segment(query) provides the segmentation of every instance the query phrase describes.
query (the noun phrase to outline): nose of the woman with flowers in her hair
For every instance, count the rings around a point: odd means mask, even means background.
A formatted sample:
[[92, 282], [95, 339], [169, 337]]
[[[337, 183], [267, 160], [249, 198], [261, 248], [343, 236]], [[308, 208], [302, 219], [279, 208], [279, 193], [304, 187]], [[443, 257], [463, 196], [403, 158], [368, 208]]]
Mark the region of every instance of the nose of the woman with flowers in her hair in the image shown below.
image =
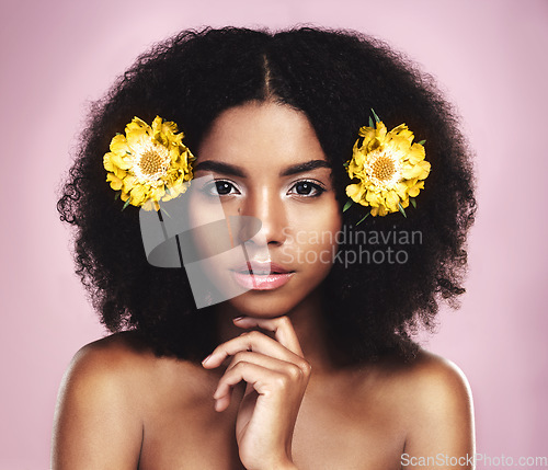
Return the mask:
[[[241, 241], [251, 241], [256, 245], [277, 247], [286, 240], [287, 216], [281, 196], [270, 188], [251, 194], [238, 209], [240, 216], [252, 216], [259, 219], [261, 228], [255, 233], [244, 230], [240, 233]], [[244, 227], [250, 227], [246, 225]], [[255, 226], [256, 228], [256, 226]]]

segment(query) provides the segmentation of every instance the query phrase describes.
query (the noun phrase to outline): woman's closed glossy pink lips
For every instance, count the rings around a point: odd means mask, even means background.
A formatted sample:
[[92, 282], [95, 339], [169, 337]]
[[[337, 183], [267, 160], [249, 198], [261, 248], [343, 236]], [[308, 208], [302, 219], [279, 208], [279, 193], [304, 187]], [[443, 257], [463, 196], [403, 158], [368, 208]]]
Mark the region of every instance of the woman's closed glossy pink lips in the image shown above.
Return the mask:
[[295, 274], [270, 262], [248, 262], [231, 270], [235, 280], [249, 290], [272, 290], [282, 287]]

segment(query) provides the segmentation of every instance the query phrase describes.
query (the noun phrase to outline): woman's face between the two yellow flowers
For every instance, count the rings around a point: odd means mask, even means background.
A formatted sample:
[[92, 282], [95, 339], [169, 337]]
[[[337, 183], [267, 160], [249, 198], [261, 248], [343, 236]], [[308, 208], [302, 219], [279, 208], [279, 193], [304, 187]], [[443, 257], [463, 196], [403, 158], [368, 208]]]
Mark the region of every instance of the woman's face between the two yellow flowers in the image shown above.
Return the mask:
[[[272, 102], [225, 111], [198, 149], [194, 173], [192, 226], [210, 222], [220, 200], [230, 238], [244, 248], [243, 262], [217, 257], [208, 277], [220, 289], [244, 291], [228, 300], [243, 314], [289, 312], [329, 274], [342, 223], [331, 169], [306, 115]], [[259, 232], [250, 219], [261, 221]], [[215, 233], [195, 243], [201, 257], [218, 253]]]

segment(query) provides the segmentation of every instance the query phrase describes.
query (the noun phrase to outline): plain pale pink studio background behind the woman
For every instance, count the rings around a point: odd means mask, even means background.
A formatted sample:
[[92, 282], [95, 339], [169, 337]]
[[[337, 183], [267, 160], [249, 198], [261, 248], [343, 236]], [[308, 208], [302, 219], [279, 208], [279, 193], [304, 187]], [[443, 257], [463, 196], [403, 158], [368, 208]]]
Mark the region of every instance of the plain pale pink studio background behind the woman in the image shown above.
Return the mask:
[[[57, 388], [103, 335], [72, 274], [55, 191], [87, 104], [185, 27], [296, 23], [377, 35], [433, 73], [477, 152], [468, 294], [429, 348], [472, 387], [477, 449], [546, 456], [548, 2], [545, 0], [3, 1], [0, 469], [49, 468]], [[516, 466], [515, 466], [516, 467]]]

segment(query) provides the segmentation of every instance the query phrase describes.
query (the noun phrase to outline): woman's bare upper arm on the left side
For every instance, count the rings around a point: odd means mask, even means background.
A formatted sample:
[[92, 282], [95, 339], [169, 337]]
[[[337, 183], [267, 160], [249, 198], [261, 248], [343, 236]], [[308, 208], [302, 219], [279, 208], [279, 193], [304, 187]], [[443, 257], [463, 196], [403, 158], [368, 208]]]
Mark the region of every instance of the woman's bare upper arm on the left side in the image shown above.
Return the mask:
[[142, 424], [123, 355], [91, 344], [80, 349], [59, 390], [53, 470], [135, 470]]

